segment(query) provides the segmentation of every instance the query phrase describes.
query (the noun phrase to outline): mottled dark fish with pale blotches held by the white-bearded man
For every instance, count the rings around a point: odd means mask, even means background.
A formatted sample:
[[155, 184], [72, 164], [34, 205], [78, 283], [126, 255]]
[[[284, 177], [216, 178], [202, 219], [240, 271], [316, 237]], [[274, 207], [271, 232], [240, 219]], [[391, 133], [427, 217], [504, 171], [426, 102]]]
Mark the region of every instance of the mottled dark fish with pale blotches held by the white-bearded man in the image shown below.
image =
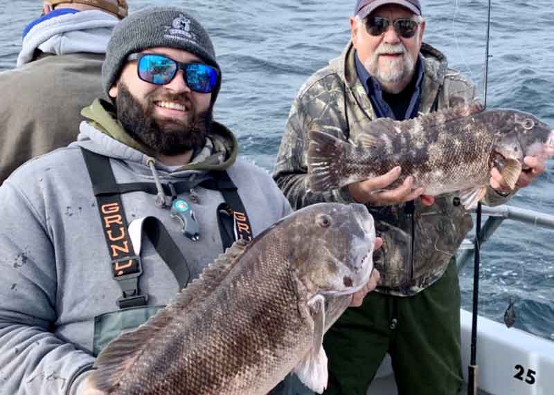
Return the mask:
[[309, 133], [307, 168], [313, 191], [331, 190], [402, 167], [391, 188], [413, 176], [425, 194], [460, 191], [465, 208], [485, 196], [497, 167], [515, 188], [524, 156], [554, 154], [554, 131], [531, 114], [484, 110], [479, 103], [429, 113], [412, 120], [379, 118], [347, 143], [323, 131]]

